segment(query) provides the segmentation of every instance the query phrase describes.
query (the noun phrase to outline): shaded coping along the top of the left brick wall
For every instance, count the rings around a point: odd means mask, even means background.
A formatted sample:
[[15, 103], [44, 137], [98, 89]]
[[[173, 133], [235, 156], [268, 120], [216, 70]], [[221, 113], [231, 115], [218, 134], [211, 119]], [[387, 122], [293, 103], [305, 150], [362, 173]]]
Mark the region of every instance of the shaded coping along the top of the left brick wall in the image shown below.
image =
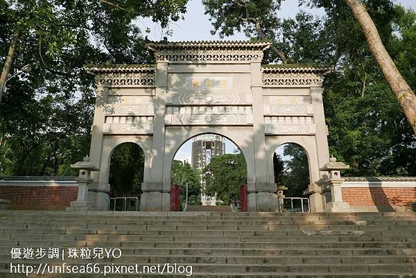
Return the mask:
[[76, 176], [3, 176], [0, 186], [78, 186]]

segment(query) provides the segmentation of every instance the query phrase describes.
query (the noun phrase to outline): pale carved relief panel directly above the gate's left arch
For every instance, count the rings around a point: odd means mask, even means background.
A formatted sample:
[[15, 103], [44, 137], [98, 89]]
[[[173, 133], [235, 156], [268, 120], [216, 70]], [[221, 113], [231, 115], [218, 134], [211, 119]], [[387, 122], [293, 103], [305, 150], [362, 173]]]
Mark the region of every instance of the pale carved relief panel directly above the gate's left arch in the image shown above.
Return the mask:
[[107, 134], [152, 134], [153, 116], [107, 116], [103, 125]]

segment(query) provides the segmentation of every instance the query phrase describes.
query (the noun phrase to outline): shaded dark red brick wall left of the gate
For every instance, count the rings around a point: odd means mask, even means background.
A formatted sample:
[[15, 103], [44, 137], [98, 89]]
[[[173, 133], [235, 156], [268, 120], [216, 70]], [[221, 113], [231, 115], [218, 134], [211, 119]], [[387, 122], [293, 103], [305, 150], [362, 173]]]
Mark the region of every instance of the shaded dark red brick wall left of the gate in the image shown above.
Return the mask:
[[0, 186], [9, 209], [64, 210], [77, 195], [78, 186]]

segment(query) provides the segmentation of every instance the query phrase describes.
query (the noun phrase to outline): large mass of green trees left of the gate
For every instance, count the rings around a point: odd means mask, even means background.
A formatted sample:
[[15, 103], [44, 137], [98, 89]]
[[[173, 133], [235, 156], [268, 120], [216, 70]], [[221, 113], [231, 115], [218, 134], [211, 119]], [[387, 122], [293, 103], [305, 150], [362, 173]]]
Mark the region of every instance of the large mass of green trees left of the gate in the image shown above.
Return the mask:
[[0, 64], [21, 33], [0, 103], [0, 175], [76, 175], [89, 153], [94, 77], [85, 64], [152, 63], [138, 17], [161, 26], [180, 19], [187, 0], [0, 0]]

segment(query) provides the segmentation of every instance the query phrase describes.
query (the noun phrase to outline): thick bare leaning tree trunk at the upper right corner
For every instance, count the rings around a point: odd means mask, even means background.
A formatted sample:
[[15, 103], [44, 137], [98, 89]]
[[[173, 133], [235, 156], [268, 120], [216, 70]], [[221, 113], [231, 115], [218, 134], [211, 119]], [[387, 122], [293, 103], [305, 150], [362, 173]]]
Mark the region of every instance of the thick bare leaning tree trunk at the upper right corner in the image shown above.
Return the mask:
[[416, 96], [385, 50], [379, 32], [361, 0], [345, 0], [363, 28], [367, 44], [416, 134]]

